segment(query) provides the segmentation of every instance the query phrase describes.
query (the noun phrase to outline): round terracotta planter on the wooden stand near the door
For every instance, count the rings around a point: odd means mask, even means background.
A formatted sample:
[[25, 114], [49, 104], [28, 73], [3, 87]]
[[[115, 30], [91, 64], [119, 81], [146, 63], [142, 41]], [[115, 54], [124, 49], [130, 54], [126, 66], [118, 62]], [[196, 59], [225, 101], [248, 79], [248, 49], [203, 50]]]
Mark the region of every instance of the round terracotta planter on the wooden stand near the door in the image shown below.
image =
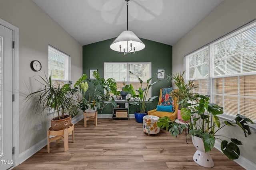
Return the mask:
[[54, 131], [59, 131], [68, 128], [71, 123], [71, 115], [62, 115], [59, 117], [54, 117], [51, 120], [51, 126]]

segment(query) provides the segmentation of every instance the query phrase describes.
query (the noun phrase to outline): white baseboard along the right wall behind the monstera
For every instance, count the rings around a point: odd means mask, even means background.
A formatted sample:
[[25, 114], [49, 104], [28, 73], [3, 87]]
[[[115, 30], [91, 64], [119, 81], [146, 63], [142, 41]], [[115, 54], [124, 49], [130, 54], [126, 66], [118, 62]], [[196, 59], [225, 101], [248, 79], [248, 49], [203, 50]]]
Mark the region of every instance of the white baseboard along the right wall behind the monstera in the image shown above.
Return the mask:
[[[220, 147], [220, 142], [215, 141], [214, 147], [216, 149], [220, 150], [220, 152], [222, 152], [221, 147]], [[246, 170], [256, 170], [256, 164], [254, 164], [250, 160], [244, 158], [243, 156], [239, 156], [239, 158], [235, 159], [234, 162], [236, 162], [237, 164], [239, 164], [240, 166], [242, 166]]]

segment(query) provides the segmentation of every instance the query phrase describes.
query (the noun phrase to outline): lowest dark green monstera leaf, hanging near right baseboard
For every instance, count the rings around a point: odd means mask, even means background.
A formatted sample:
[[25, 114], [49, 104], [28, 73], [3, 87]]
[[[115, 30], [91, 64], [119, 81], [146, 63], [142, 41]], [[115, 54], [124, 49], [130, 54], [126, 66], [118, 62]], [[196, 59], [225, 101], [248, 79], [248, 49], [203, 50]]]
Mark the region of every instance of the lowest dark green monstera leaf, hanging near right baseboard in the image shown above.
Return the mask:
[[237, 159], [240, 156], [240, 150], [238, 146], [233, 142], [228, 143], [228, 141], [222, 141], [220, 147], [222, 152], [230, 160]]

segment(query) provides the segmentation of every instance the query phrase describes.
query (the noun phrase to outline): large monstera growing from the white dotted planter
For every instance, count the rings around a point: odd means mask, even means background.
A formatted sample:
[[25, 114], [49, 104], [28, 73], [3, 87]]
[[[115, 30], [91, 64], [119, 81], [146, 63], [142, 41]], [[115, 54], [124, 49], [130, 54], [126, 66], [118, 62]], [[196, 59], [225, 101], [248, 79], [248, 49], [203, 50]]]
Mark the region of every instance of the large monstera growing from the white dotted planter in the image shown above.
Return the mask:
[[232, 121], [221, 122], [218, 115], [223, 114], [223, 107], [212, 104], [209, 100], [209, 96], [206, 95], [191, 96], [191, 103], [186, 103], [181, 109], [182, 119], [188, 123], [179, 124], [171, 121], [168, 117], [161, 117], [158, 121], [158, 127], [169, 129], [172, 136], [177, 136], [188, 127], [188, 137], [194, 135], [202, 138], [205, 152], [212, 150], [215, 140], [220, 139], [222, 152], [230, 160], [237, 159], [240, 156], [238, 145], [242, 145], [242, 143], [234, 138], [231, 138], [231, 142], [228, 143], [228, 141], [221, 139], [224, 136], [218, 136], [216, 133], [225, 126], [238, 126], [244, 131], [244, 136], [247, 137], [251, 134], [248, 123], [252, 124], [253, 122], [240, 114], [237, 114]]

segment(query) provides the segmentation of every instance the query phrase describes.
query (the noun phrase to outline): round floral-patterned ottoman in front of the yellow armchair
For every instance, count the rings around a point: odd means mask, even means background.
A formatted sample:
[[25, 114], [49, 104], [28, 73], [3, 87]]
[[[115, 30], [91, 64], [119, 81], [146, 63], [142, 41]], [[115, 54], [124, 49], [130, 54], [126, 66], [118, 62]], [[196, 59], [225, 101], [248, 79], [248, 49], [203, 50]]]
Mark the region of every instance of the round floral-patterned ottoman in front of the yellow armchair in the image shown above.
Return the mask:
[[160, 128], [157, 126], [159, 117], [153, 115], [146, 115], [143, 117], [143, 129], [144, 132], [150, 134], [157, 134], [160, 132]]

